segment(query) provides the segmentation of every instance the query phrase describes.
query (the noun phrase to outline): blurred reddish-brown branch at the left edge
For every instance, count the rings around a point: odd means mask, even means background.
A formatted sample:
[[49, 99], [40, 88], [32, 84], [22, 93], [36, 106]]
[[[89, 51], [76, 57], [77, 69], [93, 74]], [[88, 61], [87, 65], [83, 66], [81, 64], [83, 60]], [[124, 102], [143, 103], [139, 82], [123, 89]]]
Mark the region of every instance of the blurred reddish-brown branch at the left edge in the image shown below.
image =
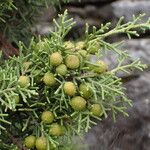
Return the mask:
[[9, 43], [1, 33], [0, 33], [0, 50], [2, 50], [6, 58], [9, 58], [9, 56], [13, 55], [19, 55], [19, 50], [15, 48], [11, 43]]

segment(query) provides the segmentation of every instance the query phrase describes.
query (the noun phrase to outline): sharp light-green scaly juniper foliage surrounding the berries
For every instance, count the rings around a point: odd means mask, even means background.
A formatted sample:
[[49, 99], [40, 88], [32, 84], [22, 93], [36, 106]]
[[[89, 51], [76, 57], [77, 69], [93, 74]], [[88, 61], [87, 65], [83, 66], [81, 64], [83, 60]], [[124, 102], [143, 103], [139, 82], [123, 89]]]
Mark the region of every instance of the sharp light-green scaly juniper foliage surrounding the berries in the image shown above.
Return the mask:
[[[108, 114], [112, 113], [114, 120], [118, 113], [128, 116], [126, 109], [132, 105], [132, 102], [124, 94], [125, 89], [117, 73], [120, 71], [130, 73], [133, 69], [143, 70], [146, 66], [139, 60], [126, 64], [126, 60], [130, 59], [127, 52], [120, 49], [120, 44], [108, 43], [105, 38], [118, 33], [126, 33], [129, 37], [133, 34], [138, 35], [135, 29], [150, 27], [149, 21], [140, 23], [141, 18], [142, 16], [133, 18], [133, 21], [127, 24], [121, 24], [119, 21], [112, 30], [109, 29], [109, 24], [101, 25], [100, 29], [93, 27], [92, 33], [89, 32], [87, 25], [82, 44], [79, 46], [76, 44], [77, 41], [72, 42], [71, 45], [74, 46], [68, 49], [69, 46], [66, 43], [70, 42], [66, 42], [64, 38], [75, 22], [73, 19], [68, 19], [67, 11], [65, 11], [63, 15], [59, 15], [59, 21], [54, 20], [55, 31], [49, 38], [39, 39], [39, 41], [32, 39], [28, 47], [20, 43], [20, 56], [6, 60], [0, 67], [0, 136], [3, 137], [0, 149], [4, 149], [5, 145], [10, 145], [11, 137], [23, 141], [28, 135], [34, 135], [36, 138], [45, 137], [47, 150], [52, 147], [52, 149], [59, 150], [67, 149], [66, 145], [72, 144], [74, 136], [82, 136], [84, 132], [88, 132], [93, 125], [97, 124], [97, 120], [108, 117]], [[99, 47], [97, 47], [97, 42]], [[107, 70], [104, 69], [100, 72], [90, 69], [91, 66], [99, 67], [99, 64], [90, 61], [91, 54], [88, 49], [91, 44], [92, 47], [95, 45], [100, 49], [94, 54], [98, 60], [102, 61], [104, 56], [102, 51], [107, 53], [111, 50], [117, 54], [118, 65], [112, 70], [108, 66]], [[78, 52], [79, 50], [87, 53], [83, 56]], [[50, 56], [56, 52], [61, 54], [63, 63], [66, 63], [66, 57], [75, 55], [79, 59], [79, 66], [67, 68], [65, 76], [56, 73], [56, 66], [52, 66], [49, 61]], [[51, 77], [47, 77], [43, 82], [45, 74], [53, 74], [56, 80], [55, 84], [51, 86], [44, 84], [45, 81], [51, 80]], [[30, 78], [30, 86], [19, 86], [18, 79], [22, 75]], [[75, 111], [72, 108], [71, 100], [75, 96], [65, 93], [65, 82], [74, 83], [77, 97], [82, 96], [79, 85], [87, 85], [88, 90], [90, 87], [92, 94], [85, 98], [80, 97], [77, 101], [78, 103], [80, 100], [82, 103], [84, 101], [84, 109], [79, 108], [75, 110], [80, 111]], [[70, 90], [70, 88], [68, 89]], [[17, 104], [12, 98], [14, 95], [19, 95], [20, 101]], [[99, 104], [98, 111], [102, 111], [100, 115], [94, 115], [91, 112], [94, 104]], [[53, 123], [57, 123], [61, 127], [63, 134], [58, 134], [60, 131], [58, 128], [55, 130], [57, 136], [49, 133], [52, 124], [45, 124], [41, 120], [41, 114], [44, 111], [54, 114]], [[70, 149], [72, 149], [71, 146]]]

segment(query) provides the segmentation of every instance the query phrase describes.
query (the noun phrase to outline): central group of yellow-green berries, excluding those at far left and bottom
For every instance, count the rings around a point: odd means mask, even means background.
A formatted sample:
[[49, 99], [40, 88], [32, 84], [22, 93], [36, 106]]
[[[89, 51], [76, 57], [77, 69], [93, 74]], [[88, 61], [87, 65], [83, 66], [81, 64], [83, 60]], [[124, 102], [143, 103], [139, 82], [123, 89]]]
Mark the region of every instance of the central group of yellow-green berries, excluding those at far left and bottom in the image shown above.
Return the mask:
[[[84, 42], [77, 42], [76, 45], [74, 45], [69, 41], [64, 45], [66, 50], [71, 50], [69, 54], [67, 56], [62, 56], [61, 53], [54, 52], [49, 56], [49, 61], [53, 67], [56, 67], [56, 73], [66, 77], [66, 79], [68, 77], [67, 74], [71, 75], [71, 70], [76, 70], [80, 67], [82, 63], [80, 57], [83, 59], [89, 59], [89, 54], [95, 54], [99, 50], [98, 43], [97, 45], [95, 45], [95, 43], [94, 45], [90, 45], [86, 50]], [[98, 61], [96, 65], [88, 64], [87, 68], [95, 73], [104, 73], [107, 70], [107, 65], [103, 61]], [[73, 79], [73, 77], [69, 78], [69, 81], [64, 81], [62, 86], [63, 91], [66, 95], [71, 97], [69, 103], [74, 111], [85, 110], [87, 103], [86, 100], [90, 99], [93, 93], [90, 88], [90, 83], [84, 82], [78, 86], [78, 83], [74, 83], [73, 81], [70, 81], [70, 79]], [[53, 86], [57, 80], [53, 73], [48, 72], [45, 73], [43, 82], [47, 86]], [[96, 116], [100, 116], [102, 113], [101, 106], [99, 104], [93, 104], [91, 112]]]

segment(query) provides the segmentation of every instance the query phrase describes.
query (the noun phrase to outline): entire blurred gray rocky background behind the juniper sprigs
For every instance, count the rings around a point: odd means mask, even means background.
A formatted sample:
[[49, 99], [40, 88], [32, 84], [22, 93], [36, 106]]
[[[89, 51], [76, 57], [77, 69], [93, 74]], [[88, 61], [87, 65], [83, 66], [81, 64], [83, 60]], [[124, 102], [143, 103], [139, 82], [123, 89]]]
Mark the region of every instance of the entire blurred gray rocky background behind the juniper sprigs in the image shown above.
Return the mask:
[[[68, 9], [76, 20], [77, 26], [70, 33], [69, 38], [82, 37], [86, 22], [99, 26], [101, 23], [112, 22], [112, 26], [121, 17], [125, 22], [132, 19], [132, 15], [145, 13], [145, 20], [150, 17], [150, 0], [81, 0], [63, 5], [62, 10]], [[49, 22], [57, 12], [49, 9], [41, 17], [43, 22], [36, 26], [36, 32], [46, 34]], [[43, 28], [44, 26], [44, 28]], [[42, 28], [41, 28], [42, 27]], [[124, 36], [116, 36], [110, 41], [124, 39], [124, 49], [132, 58], [150, 65], [150, 32], [147, 31], [137, 39], [127, 40]], [[108, 63], [113, 63], [111, 57]], [[149, 150], [150, 149], [150, 69], [126, 77], [124, 86], [127, 95], [133, 100], [133, 107], [129, 108], [129, 117], [119, 116], [114, 123], [111, 118], [98, 123], [85, 136], [88, 144], [85, 150]]]

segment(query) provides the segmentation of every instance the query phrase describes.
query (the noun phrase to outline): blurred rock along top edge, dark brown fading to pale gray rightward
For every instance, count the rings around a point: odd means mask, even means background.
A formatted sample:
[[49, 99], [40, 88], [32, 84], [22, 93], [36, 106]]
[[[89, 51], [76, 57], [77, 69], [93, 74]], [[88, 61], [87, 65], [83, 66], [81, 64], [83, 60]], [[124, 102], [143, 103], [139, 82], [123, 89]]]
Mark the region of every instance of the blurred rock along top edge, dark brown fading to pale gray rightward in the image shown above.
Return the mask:
[[[87, 0], [88, 1], [88, 0]], [[108, 2], [108, 1], [107, 1]], [[145, 13], [143, 21], [146, 21], [150, 16], [150, 1], [148, 0], [119, 0], [109, 1], [107, 5], [97, 3], [87, 3], [84, 6], [69, 5], [65, 7], [72, 16], [78, 16], [81, 19], [76, 20], [80, 26], [85, 23], [99, 26], [103, 22], [112, 22], [114, 25], [122, 16], [125, 17], [125, 22], [131, 21], [133, 14], [135, 16]], [[75, 18], [78, 18], [75, 17]]]

